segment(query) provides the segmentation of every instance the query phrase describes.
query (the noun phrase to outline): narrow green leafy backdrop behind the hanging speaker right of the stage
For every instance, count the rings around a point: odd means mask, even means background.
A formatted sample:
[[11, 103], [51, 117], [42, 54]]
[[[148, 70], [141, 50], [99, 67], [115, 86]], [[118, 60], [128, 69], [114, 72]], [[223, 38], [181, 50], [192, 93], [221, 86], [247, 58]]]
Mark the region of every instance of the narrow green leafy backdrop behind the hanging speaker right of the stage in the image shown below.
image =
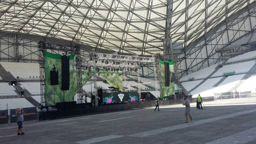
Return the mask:
[[[164, 83], [165, 83], [164, 62], [169, 62], [169, 68], [170, 68], [170, 86], [168, 86], [168, 87], [164, 86]], [[168, 97], [170, 94], [175, 94], [174, 83], [171, 82], [172, 73], [174, 73], [173, 64], [174, 64], [174, 61], [159, 60], [160, 78], [161, 78], [161, 83], [160, 83], [160, 97], [161, 98]]]

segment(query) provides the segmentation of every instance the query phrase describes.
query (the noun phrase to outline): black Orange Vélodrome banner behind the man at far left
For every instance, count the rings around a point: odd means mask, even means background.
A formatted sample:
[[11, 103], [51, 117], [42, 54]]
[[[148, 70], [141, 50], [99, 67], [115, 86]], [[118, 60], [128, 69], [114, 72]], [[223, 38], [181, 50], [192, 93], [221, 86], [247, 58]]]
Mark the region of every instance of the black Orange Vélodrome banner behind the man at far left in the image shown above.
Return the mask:
[[[24, 121], [36, 120], [36, 107], [22, 108]], [[17, 116], [15, 115], [16, 109], [11, 109], [11, 123], [17, 122]]]

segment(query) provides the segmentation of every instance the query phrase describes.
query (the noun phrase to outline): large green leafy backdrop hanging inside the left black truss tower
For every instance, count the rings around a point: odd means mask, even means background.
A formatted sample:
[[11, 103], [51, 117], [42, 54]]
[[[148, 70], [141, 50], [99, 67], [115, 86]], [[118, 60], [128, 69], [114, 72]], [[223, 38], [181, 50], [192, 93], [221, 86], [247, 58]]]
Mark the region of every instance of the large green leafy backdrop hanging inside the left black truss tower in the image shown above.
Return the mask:
[[[76, 84], [76, 68], [75, 65], [75, 54], [69, 55], [69, 90], [61, 90], [61, 55], [53, 54], [50, 52], [44, 51], [45, 59], [45, 89], [46, 89], [46, 102], [47, 106], [55, 105], [57, 102], [74, 101], [74, 96], [77, 93], [77, 84]], [[59, 71], [59, 85], [50, 84], [50, 71], [55, 65], [56, 70]], [[91, 76], [84, 75], [82, 76], [83, 85], [91, 78]], [[64, 92], [64, 97], [63, 97]]]

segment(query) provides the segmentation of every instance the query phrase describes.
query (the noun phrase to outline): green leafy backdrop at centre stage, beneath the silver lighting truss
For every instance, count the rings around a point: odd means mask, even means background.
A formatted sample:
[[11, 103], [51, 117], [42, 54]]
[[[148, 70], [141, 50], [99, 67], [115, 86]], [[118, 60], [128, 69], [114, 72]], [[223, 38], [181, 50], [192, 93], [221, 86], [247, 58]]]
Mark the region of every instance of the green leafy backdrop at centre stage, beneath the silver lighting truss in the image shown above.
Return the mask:
[[[108, 82], [109, 85], [114, 86], [116, 88], [119, 87], [119, 91], [123, 91], [123, 77], [122, 75], [119, 76], [118, 74], [122, 74], [122, 71], [117, 71], [118, 73], [113, 73], [113, 76], [111, 76], [111, 71], [104, 71], [100, 70], [100, 75]], [[108, 75], [107, 75], [108, 74]], [[105, 87], [108, 89], [107, 87]]]

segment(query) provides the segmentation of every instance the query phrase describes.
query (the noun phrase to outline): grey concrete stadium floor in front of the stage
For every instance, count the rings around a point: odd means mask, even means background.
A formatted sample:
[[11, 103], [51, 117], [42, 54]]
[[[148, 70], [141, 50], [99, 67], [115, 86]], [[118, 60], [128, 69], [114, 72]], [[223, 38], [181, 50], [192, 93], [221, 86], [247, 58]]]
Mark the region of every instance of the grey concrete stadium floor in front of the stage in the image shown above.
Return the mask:
[[184, 124], [182, 105], [81, 116], [43, 122], [0, 125], [0, 143], [256, 143], [256, 98], [191, 104], [194, 123]]

